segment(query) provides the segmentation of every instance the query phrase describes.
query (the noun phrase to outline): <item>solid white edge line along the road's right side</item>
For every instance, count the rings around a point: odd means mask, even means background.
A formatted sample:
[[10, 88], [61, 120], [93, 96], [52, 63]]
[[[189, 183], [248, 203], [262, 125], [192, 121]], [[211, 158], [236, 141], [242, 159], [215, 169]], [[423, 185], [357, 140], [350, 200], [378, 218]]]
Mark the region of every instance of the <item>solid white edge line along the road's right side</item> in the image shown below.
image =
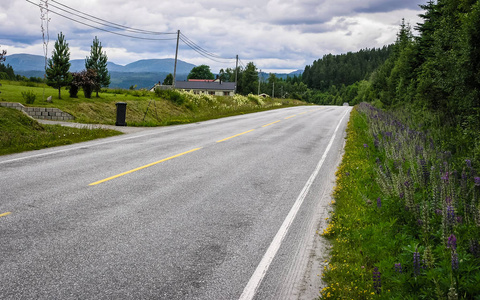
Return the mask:
[[322, 155], [322, 158], [318, 162], [317, 167], [313, 171], [312, 175], [310, 175], [310, 178], [308, 179], [307, 183], [305, 184], [302, 191], [300, 192], [300, 195], [298, 195], [297, 200], [293, 204], [292, 208], [290, 209], [290, 212], [288, 213], [287, 217], [283, 221], [282, 226], [280, 227], [277, 234], [273, 238], [272, 243], [270, 244], [267, 251], [263, 255], [263, 258], [258, 264], [257, 269], [255, 270], [252, 277], [250, 278], [247, 285], [245, 286], [239, 300], [251, 300], [253, 299], [253, 297], [255, 297], [257, 289], [260, 286], [260, 283], [262, 282], [263, 278], [265, 277], [265, 274], [267, 274], [268, 268], [270, 267], [270, 264], [275, 258], [275, 255], [277, 254], [278, 249], [280, 249], [282, 241], [287, 235], [290, 225], [292, 225], [293, 220], [295, 219], [295, 216], [300, 210], [300, 206], [305, 200], [305, 197], [307, 196], [310, 190], [310, 187], [313, 184], [313, 181], [317, 177], [318, 173], [320, 172], [320, 168], [322, 167], [323, 163], [325, 162], [325, 159], [327, 158], [327, 154], [330, 151], [330, 148], [332, 147], [333, 141], [335, 140], [335, 137], [337, 135], [337, 131], [340, 128], [340, 124], [342, 123], [343, 119], [345, 118], [345, 116], [349, 111], [350, 110], [347, 110], [343, 115], [343, 117], [338, 122], [338, 125], [335, 128], [335, 131], [333, 132], [333, 135], [330, 138], [330, 142], [328, 143], [327, 148], [325, 149], [325, 152]]

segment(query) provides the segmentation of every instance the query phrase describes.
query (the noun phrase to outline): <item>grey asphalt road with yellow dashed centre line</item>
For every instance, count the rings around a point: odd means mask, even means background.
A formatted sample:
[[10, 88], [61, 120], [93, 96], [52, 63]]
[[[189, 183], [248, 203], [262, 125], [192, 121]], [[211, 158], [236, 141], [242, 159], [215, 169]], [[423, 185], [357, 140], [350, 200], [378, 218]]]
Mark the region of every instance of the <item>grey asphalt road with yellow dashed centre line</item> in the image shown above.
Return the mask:
[[293, 107], [1, 156], [0, 298], [308, 294], [350, 109]]

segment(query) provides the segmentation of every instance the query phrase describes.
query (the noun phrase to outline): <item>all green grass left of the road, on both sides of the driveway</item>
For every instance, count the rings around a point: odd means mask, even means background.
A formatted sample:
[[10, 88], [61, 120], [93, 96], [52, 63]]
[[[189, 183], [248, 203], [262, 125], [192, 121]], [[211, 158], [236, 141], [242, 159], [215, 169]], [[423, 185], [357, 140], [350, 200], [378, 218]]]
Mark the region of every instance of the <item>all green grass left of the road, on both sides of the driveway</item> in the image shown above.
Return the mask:
[[[1, 81], [0, 101], [19, 102], [25, 106], [55, 107], [75, 117], [75, 122], [110, 124], [116, 122], [116, 103], [126, 102], [128, 126], [166, 126], [205, 121], [227, 116], [264, 111], [275, 108], [305, 105], [289, 99], [261, 99], [257, 96], [212, 97], [185, 92], [153, 93], [146, 90], [105, 89], [99, 97], [87, 99], [83, 91], [78, 98], [70, 98], [58, 91], [32, 82]], [[35, 95], [33, 104], [26, 104], [22, 93]], [[52, 96], [53, 103], [44, 99]], [[118, 134], [114, 131], [63, 128], [40, 125], [15, 110], [1, 110], [0, 155], [27, 150], [71, 144]]]

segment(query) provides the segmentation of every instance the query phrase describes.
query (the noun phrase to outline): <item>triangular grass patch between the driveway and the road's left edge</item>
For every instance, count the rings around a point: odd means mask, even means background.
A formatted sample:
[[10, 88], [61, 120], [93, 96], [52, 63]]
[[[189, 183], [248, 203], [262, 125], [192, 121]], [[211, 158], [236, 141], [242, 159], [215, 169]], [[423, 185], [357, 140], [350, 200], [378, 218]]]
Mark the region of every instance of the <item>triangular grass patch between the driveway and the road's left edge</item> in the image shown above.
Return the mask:
[[42, 125], [24, 113], [0, 107], [0, 155], [68, 145], [121, 134], [114, 130]]

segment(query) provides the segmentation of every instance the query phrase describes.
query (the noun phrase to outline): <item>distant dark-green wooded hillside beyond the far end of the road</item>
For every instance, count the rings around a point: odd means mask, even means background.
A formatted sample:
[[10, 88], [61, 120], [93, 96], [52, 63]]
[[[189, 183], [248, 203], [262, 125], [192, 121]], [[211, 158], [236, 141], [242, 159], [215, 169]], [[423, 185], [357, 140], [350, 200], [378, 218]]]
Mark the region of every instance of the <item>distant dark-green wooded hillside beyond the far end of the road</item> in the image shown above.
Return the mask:
[[390, 56], [393, 46], [381, 49], [364, 49], [341, 55], [328, 54], [307, 65], [303, 82], [311, 89], [327, 91], [331, 86], [351, 85], [368, 79]]

